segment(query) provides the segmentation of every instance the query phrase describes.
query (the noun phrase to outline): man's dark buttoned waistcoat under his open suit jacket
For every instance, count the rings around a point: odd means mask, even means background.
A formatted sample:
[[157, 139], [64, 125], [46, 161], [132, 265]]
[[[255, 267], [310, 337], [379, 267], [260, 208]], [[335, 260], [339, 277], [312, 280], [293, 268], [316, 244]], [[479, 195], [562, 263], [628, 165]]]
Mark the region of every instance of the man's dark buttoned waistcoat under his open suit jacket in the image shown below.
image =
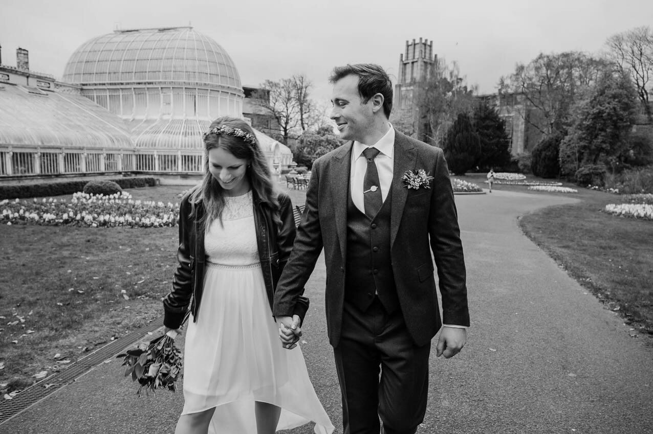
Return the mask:
[[347, 194], [345, 300], [365, 311], [377, 295], [388, 313], [399, 307], [390, 258], [390, 191], [374, 219]]

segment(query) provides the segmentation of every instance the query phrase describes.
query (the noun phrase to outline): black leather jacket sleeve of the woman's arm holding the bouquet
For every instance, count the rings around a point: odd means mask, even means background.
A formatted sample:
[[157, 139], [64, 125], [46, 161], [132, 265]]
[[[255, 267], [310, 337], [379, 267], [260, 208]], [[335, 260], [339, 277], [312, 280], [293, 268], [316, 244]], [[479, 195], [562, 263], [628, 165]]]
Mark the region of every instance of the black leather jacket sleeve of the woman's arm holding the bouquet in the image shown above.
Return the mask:
[[163, 299], [165, 315], [163, 324], [172, 329], [181, 326], [185, 312], [193, 295], [193, 246], [195, 220], [190, 219], [191, 204], [188, 196], [182, 199], [179, 210], [179, 248], [177, 249], [178, 265], [174, 271], [172, 290]]

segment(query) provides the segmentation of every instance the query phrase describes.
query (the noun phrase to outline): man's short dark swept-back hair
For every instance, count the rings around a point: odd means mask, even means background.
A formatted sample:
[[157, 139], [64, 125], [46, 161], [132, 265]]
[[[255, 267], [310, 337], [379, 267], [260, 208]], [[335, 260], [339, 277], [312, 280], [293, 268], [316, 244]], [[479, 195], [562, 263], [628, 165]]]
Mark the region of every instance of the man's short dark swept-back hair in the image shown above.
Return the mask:
[[383, 95], [383, 113], [390, 119], [392, 112], [392, 82], [387, 72], [374, 63], [357, 63], [344, 67], [335, 67], [329, 82], [335, 84], [348, 75], [358, 76], [358, 93], [366, 104], [377, 93]]

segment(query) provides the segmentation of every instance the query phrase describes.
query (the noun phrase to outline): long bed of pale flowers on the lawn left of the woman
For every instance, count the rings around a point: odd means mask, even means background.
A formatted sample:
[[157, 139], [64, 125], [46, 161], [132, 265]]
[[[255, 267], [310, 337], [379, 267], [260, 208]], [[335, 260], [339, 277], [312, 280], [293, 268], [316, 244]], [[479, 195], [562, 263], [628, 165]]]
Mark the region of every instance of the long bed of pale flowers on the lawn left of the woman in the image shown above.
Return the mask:
[[170, 202], [132, 200], [125, 192], [110, 196], [74, 193], [70, 202], [5, 199], [0, 202], [0, 221], [7, 225], [163, 227], [176, 225], [178, 208]]

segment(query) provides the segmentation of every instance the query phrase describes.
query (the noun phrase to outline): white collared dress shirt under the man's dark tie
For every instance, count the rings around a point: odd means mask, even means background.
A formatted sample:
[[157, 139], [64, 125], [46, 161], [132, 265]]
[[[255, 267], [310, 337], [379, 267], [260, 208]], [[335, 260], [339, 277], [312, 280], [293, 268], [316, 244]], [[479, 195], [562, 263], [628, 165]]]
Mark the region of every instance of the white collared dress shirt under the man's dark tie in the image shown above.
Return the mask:
[[356, 208], [365, 212], [363, 199], [363, 179], [367, 170], [367, 159], [363, 151], [370, 146], [379, 149], [379, 155], [374, 159], [376, 170], [379, 172], [379, 187], [381, 187], [381, 198], [385, 202], [392, 185], [392, 170], [394, 169], [394, 128], [390, 129], [381, 137], [378, 142], [373, 144], [362, 144], [354, 142], [351, 149], [351, 174], [349, 174], [349, 188], [351, 189], [351, 200]]

